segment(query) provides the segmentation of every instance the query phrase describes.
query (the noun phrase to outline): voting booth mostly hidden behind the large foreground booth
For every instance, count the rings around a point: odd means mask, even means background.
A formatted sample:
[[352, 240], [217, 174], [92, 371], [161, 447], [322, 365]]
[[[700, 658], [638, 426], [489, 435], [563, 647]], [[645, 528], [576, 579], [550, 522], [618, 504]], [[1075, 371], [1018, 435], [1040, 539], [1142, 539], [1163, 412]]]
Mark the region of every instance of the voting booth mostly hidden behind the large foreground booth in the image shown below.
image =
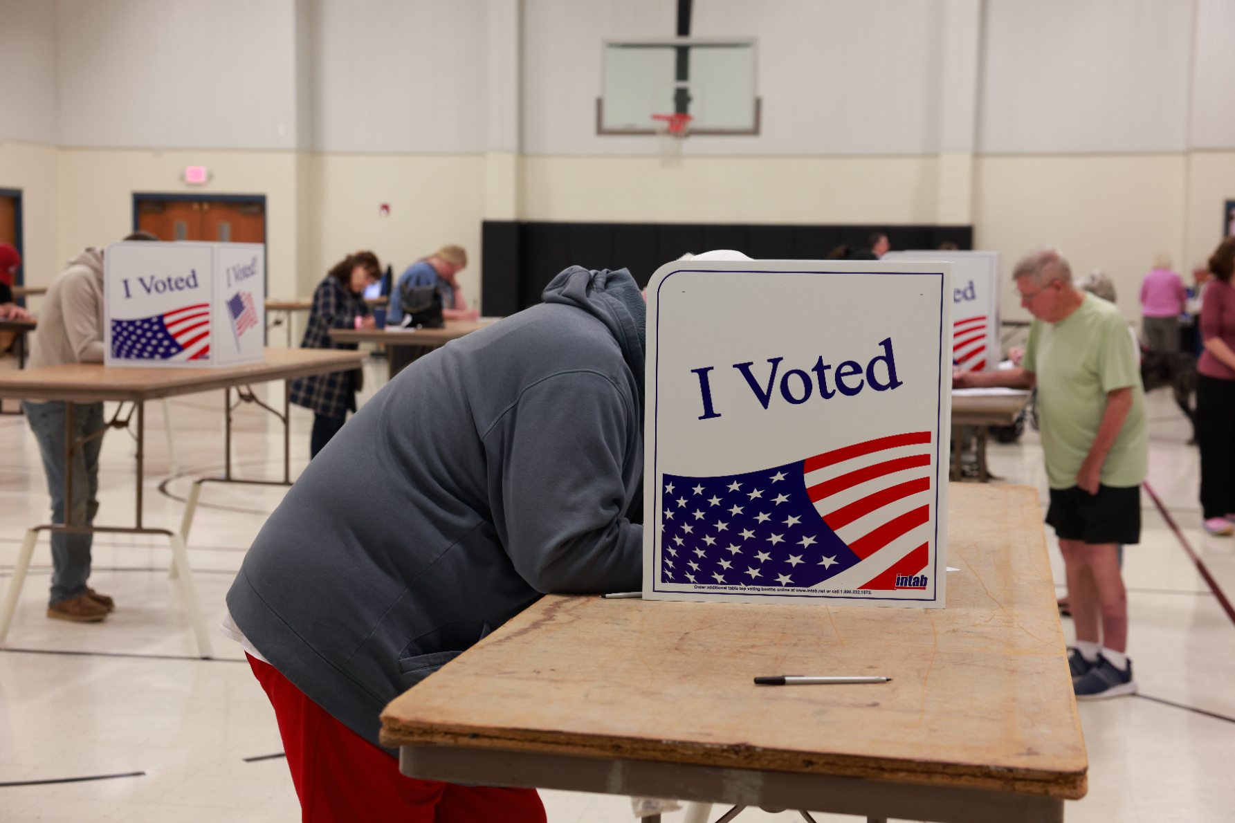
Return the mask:
[[972, 371], [999, 368], [999, 252], [888, 252], [883, 259], [951, 262], [952, 362]]

